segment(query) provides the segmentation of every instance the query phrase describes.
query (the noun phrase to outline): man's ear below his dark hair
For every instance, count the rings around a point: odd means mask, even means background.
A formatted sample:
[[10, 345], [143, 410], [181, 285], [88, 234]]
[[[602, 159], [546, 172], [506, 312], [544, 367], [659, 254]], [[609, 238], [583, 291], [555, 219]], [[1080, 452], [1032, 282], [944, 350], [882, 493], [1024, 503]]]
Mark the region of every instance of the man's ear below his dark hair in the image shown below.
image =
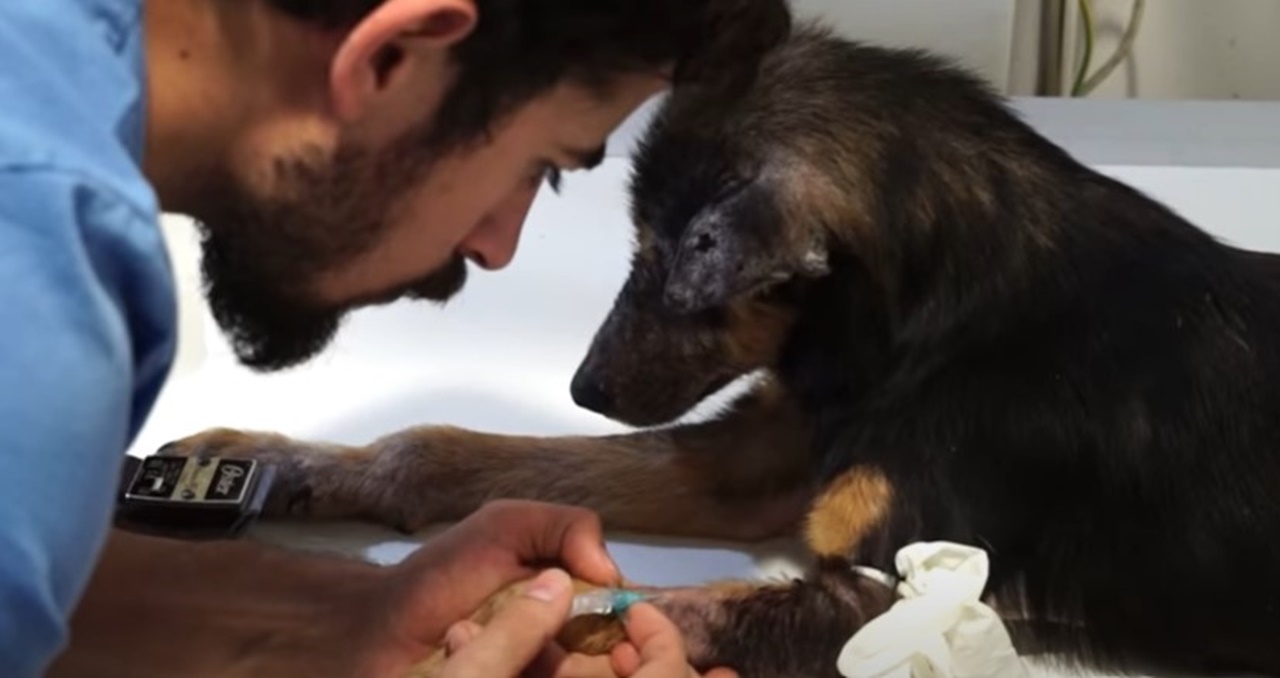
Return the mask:
[[471, 33], [476, 19], [474, 0], [385, 0], [378, 5], [333, 58], [329, 87], [337, 115], [355, 120], [411, 79], [411, 70], [424, 68], [424, 61], [445, 64], [448, 50]]

